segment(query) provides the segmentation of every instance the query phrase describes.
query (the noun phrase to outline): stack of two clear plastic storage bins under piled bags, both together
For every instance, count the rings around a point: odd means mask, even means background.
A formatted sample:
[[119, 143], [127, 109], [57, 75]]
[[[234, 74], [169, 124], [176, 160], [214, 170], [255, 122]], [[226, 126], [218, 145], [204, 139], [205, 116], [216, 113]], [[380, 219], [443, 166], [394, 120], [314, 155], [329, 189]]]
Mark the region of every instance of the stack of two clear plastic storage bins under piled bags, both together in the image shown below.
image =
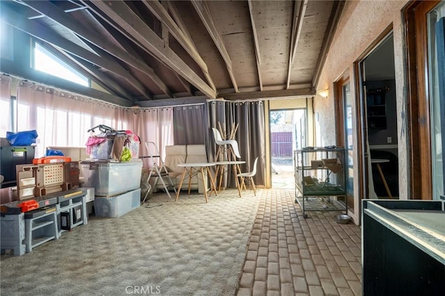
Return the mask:
[[95, 188], [95, 215], [120, 217], [140, 206], [140, 175], [143, 163], [82, 161], [85, 187]]

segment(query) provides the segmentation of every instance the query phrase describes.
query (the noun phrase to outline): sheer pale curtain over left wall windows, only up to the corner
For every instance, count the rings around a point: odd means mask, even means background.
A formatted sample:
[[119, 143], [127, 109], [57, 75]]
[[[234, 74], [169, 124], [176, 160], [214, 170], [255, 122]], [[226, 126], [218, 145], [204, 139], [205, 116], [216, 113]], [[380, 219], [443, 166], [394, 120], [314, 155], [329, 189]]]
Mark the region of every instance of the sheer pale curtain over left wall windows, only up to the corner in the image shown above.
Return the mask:
[[36, 157], [44, 156], [49, 146], [86, 147], [92, 127], [127, 130], [132, 120], [118, 106], [26, 81], [19, 84], [17, 110], [17, 130], [38, 132]]

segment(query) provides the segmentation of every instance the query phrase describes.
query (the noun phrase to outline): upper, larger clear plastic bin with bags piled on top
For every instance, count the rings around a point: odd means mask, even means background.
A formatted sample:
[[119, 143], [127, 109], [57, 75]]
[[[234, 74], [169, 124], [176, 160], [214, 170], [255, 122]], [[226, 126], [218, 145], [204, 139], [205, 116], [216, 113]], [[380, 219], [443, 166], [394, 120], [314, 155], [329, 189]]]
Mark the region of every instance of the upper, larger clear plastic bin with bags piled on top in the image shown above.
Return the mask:
[[113, 163], [82, 161], [83, 187], [95, 188], [96, 196], [112, 196], [140, 187], [142, 161]]

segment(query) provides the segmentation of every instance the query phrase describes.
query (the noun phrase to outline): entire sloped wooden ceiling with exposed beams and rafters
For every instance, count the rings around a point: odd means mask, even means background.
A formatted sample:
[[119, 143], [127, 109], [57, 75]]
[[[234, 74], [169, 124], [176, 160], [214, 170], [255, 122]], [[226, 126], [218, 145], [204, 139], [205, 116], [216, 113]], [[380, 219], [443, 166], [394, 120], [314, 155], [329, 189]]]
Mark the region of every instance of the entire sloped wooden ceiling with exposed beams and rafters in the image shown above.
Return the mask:
[[0, 1], [122, 105], [313, 96], [343, 1]]

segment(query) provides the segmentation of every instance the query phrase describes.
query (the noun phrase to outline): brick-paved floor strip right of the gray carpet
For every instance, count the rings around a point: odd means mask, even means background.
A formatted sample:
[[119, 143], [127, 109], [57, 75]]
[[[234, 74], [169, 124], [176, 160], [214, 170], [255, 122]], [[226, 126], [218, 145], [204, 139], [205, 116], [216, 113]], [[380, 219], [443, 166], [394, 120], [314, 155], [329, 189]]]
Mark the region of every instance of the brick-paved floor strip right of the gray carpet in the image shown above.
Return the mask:
[[263, 190], [236, 295], [361, 295], [361, 229], [307, 212], [293, 190]]

